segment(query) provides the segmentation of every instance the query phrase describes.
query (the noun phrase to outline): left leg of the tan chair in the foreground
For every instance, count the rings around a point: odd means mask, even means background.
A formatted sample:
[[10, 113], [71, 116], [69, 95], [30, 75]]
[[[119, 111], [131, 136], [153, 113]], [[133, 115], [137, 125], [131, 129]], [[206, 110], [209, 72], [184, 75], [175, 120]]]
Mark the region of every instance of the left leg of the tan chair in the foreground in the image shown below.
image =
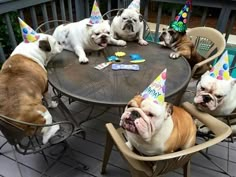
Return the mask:
[[113, 142], [110, 134], [107, 132], [107, 135], [106, 135], [106, 146], [105, 146], [105, 150], [104, 150], [101, 174], [106, 173], [106, 166], [107, 166], [107, 163], [109, 161], [113, 145], [114, 145], [114, 142]]

